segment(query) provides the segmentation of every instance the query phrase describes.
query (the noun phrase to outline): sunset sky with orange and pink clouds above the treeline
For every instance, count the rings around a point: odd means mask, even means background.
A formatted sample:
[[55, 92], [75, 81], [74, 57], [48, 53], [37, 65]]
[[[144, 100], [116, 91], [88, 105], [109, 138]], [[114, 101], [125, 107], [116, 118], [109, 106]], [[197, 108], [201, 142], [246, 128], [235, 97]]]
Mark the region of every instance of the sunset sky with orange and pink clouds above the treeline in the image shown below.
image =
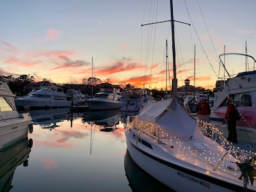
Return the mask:
[[[195, 75], [195, 86], [212, 89], [223, 76], [224, 47], [256, 57], [255, 7], [255, 0], [173, 0], [174, 19], [191, 24], [175, 22], [178, 87], [185, 79], [193, 85]], [[102, 82], [164, 88], [168, 40], [173, 77], [170, 22], [141, 27], [170, 20], [168, 0], [2, 0], [0, 18], [4, 76], [81, 84], [92, 77], [93, 58], [93, 76]], [[246, 70], [244, 63], [225, 57], [230, 74]]]

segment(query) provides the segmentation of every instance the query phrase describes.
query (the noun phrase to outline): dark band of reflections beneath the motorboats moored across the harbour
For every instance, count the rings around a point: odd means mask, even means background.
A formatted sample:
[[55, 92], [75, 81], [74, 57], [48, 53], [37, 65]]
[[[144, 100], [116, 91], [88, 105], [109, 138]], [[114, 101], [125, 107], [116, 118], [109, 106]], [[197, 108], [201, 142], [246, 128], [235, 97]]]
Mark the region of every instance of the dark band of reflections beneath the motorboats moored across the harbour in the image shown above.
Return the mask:
[[127, 116], [134, 116], [136, 112], [120, 112], [117, 110], [103, 111], [81, 111], [79, 113], [70, 112], [70, 108], [40, 109], [29, 111], [33, 124], [40, 125], [42, 129], [52, 129], [60, 127], [64, 120], [73, 121], [82, 118], [82, 123], [99, 125], [100, 131], [114, 131], [118, 129], [116, 125], [120, 122], [126, 124]]

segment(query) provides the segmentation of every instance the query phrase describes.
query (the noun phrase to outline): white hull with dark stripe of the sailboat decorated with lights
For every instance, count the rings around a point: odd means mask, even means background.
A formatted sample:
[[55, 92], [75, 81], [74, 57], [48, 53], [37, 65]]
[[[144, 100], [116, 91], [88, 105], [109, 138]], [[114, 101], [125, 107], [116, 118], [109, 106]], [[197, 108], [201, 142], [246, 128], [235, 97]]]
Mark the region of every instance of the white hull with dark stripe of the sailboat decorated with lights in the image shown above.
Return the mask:
[[[223, 179], [218, 173], [213, 177], [211, 173], [205, 173], [204, 168], [193, 166], [172, 155], [161, 156], [163, 150], [161, 152], [161, 148], [155, 148], [156, 143], [145, 138], [138, 142], [134, 135], [132, 129], [125, 131], [127, 150], [132, 160], [169, 188], [175, 191], [243, 191], [243, 180]], [[164, 148], [164, 145], [161, 147]], [[248, 186], [247, 191], [254, 191], [251, 187]]]

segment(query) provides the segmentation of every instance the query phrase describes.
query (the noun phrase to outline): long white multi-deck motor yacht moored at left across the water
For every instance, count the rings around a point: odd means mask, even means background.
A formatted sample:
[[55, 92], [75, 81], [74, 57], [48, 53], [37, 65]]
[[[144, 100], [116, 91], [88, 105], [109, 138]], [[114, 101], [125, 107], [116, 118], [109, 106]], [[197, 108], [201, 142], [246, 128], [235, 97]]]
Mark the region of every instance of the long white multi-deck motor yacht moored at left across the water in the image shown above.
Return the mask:
[[17, 97], [15, 104], [20, 111], [30, 109], [67, 108], [71, 106], [71, 97], [58, 86], [44, 86], [27, 97]]

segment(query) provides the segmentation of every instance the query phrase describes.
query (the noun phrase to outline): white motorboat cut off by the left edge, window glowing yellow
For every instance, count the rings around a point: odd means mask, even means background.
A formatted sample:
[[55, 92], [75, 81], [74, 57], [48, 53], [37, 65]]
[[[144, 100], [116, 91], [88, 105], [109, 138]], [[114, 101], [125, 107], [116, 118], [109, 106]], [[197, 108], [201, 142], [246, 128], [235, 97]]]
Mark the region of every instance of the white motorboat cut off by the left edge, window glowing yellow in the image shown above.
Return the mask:
[[18, 113], [14, 97], [7, 79], [0, 76], [0, 148], [24, 138], [28, 135], [29, 128], [33, 128], [30, 114]]

